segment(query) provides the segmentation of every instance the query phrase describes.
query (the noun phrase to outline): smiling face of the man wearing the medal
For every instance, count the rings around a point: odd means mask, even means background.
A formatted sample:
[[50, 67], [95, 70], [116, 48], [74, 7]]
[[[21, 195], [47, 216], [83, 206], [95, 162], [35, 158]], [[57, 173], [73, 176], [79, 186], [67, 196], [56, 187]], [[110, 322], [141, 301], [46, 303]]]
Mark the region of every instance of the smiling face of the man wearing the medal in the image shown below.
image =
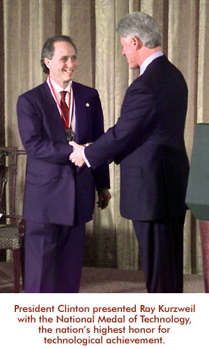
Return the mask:
[[77, 69], [75, 48], [65, 41], [54, 43], [54, 56], [52, 59], [45, 58], [45, 65], [52, 80], [65, 89]]

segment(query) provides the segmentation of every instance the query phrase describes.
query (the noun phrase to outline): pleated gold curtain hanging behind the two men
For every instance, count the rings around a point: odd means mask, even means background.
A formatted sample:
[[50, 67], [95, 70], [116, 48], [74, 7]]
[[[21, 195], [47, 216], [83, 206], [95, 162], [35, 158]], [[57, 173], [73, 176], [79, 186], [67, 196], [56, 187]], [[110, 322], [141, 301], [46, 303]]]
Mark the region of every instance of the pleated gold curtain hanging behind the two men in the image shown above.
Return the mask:
[[[6, 145], [22, 148], [17, 129], [17, 97], [45, 79], [40, 68], [40, 50], [44, 41], [56, 34], [69, 35], [75, 41], [79, 64], [76, 80], [98, 89], [104, 128], [114, 125], [125, 90], [137, 76], [136, 71], [127, 68], [121, 55], [116, 24], [126, 13], [141, 10], [157, 20], [164, 53], [187, 80], [185, 141], [191, 156], [194, 125], [209, 122], [209, 0], [3, 0], [2, 10], [1, 144], [5, 140]], [[24, 163], [20, 172], [24, 178]], [[87, 224], [85, 262], [137, 269], [139, 248], [132, 223], [121, 218], [119, 212], [119, 167], [114, 163], [110, 165], [110, 175], [110, 205], [101, 212], [95, 207], [94, 219]], [[186, 273], [202, 272], [199, 228], [190, 211], [185, 221], [184, 266]]]

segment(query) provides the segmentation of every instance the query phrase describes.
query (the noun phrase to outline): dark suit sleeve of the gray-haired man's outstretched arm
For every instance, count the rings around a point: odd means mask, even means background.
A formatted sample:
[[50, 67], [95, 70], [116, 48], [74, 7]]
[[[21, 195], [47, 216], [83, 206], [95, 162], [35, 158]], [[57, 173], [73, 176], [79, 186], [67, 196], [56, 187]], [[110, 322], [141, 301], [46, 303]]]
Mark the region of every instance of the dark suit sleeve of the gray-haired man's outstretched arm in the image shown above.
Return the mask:
[[[119, 163], [123, 157], [137, 149], [155, 122], [155, 99], [145, 84], [133, 84], [127, 89], [121, 117], [96, 142], [85, 149], [92, 168], [114, 158]], [[120, 160], [116, 160], [120, 159]]]

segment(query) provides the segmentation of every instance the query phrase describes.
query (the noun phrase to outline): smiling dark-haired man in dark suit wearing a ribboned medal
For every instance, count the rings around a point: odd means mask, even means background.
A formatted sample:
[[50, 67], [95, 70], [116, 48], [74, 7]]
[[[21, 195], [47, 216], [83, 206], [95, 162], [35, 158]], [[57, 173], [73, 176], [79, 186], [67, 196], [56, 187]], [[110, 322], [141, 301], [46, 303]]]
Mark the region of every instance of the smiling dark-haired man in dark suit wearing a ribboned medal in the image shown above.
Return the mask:
[[[95, 204], [107, 207], [109, 168], [76, 168], [69, 160], [75, 138], [94, 142], [104, 133], [98, 91], [72, 82], [77, 50], [68, 36], [49, 38], [41, 63], [47, 81], [17, 101], [18, 126], [27, 154], [23, 217], [25, 292], [78, 292], [85, 223]], [[67, 139], [68, 138], [68, 139]]]

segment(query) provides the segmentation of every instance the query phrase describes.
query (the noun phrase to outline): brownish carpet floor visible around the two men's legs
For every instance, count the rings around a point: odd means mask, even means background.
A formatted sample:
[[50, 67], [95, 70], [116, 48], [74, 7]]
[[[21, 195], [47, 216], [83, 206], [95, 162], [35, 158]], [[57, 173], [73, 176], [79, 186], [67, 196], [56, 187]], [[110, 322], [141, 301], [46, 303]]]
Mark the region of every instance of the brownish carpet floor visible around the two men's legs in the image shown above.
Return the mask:
[[[9, 262], [0, 262], [0, 293], [13, 292], [13, 265]], [[83, 267], [79, 292], [146, 293], [144, 274], [134, 270]], [[204, 292], [203, 275], [184, 275], [184, 293]]]

